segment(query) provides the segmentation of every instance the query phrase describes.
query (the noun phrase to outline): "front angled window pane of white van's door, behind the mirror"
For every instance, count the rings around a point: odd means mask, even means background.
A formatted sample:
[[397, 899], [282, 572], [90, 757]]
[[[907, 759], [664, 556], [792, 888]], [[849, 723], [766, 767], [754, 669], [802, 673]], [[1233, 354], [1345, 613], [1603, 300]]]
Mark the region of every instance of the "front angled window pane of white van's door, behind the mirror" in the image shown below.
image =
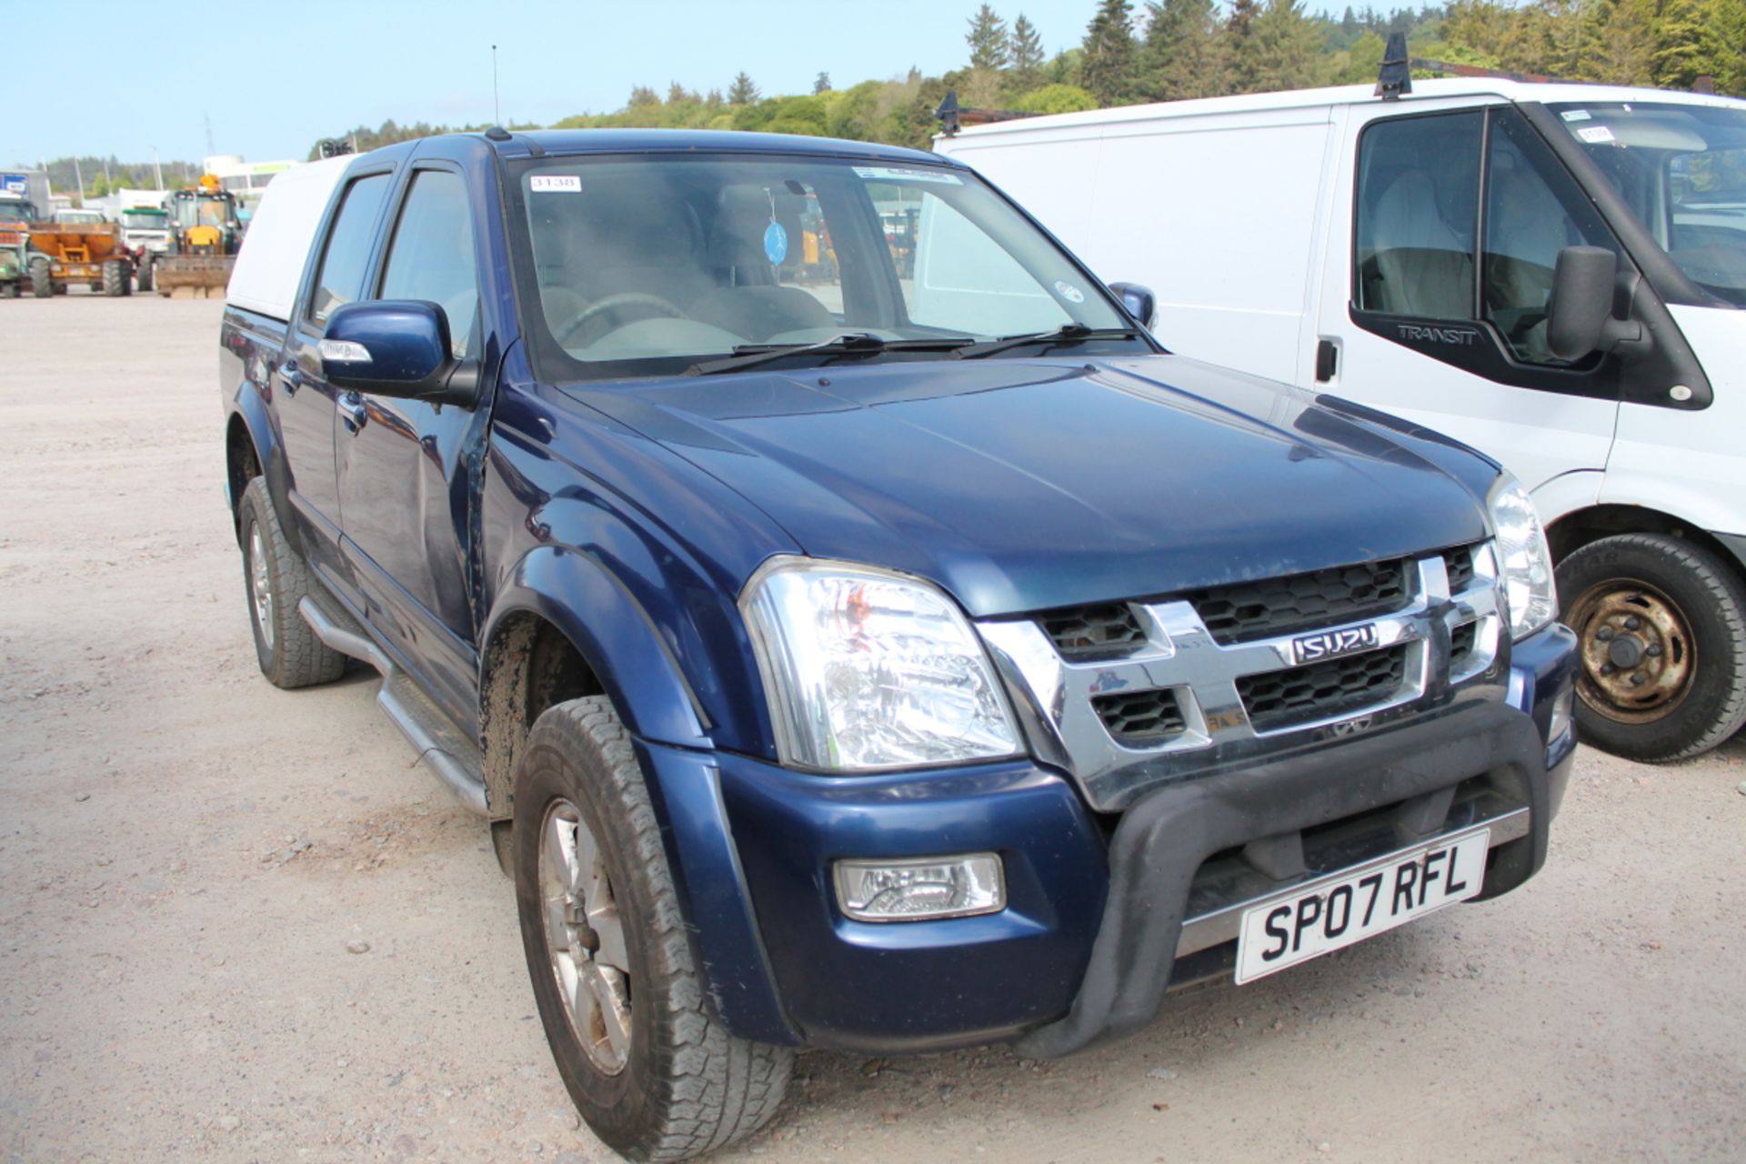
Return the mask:
[[1481, 284], [1489, 319], [1523, 363], [1563, 363], [1545, 340], [1552, 272], [1566, 246], [1619, 250], [1575, 178], [1514, 110], [1491, 120]]

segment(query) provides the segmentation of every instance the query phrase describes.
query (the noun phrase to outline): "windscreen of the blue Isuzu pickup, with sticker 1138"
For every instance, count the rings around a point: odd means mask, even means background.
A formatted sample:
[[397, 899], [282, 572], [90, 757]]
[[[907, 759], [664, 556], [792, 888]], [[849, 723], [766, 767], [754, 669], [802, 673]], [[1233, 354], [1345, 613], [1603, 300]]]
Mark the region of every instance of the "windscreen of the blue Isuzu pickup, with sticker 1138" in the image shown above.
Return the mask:
[[646, 154], [540, 159], [515, 176], [540, 351], [569, 379], [663, 375], [843, 333], [1131, 328], [1042, 232], [955, 168]]

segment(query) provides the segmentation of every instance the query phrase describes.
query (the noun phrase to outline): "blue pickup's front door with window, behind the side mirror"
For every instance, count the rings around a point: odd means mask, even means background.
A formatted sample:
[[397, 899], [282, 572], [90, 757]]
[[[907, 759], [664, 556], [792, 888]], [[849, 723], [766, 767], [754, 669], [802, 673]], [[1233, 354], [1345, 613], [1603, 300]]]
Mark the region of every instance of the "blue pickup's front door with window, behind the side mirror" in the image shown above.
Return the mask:
[[[414, 168], [370, 298], [426, 300], [449, 321], [456, 359], [478, 358], [480, 302], [466, 183], [443, 162]], [[466, 574], [468, 450], [487, 410], [347, 391], [335, 435], [346, 557], [367, 616], [459, 722], [477, 703]]]

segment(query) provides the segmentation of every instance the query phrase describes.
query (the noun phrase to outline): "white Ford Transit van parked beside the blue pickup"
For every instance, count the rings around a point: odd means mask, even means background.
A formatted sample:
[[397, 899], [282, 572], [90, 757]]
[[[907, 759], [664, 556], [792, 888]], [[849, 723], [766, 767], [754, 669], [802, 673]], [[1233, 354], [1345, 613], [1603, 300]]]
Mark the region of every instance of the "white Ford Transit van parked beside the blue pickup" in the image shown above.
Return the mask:
[[1166, 347], [1514, 471], [1582, 637], [1585, 740], [1664, 761], [1739, 729], [1746, 101], [1461, 79], [1006, 120], [934, 148], [1103, 279], [1149, 286]]

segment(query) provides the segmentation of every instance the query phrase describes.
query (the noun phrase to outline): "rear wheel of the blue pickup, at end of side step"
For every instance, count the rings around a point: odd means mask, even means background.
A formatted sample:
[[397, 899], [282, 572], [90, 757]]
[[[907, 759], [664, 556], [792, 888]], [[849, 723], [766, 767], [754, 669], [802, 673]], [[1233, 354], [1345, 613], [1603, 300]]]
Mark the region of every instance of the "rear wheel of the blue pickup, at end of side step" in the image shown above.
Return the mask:
[[346, 656], [316, 639], [297, 604], [309, 593], [309, 569], [292, 550], [267, 496], [267, 478], [243, 490], [243, 593], [255, 632], [260, 674], [276, 688], [309, 688], [339, 679]]

